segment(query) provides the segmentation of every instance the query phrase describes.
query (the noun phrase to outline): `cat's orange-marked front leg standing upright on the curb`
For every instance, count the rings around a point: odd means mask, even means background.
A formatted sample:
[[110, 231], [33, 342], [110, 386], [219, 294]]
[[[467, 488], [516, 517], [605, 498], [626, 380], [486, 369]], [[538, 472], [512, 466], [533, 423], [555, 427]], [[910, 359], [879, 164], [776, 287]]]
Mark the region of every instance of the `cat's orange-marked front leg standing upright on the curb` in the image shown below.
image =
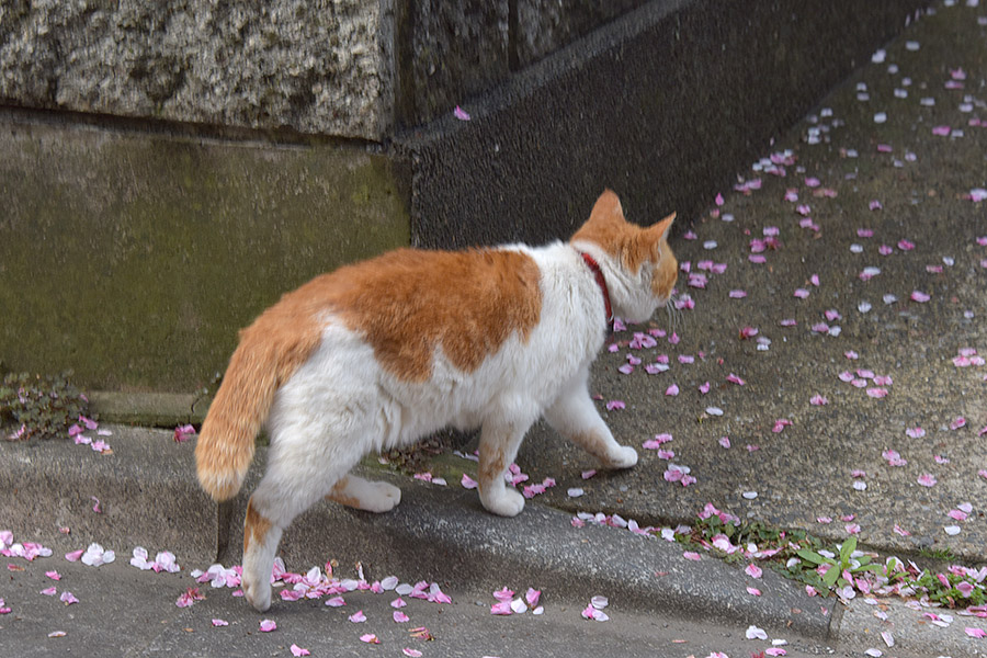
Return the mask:
[[524, 509], [524, 497], [508, 488], [503, 474], [514, 461], [530, 423], [520, 431], [513, 423], [487, 421], [480, 431], [478, 485], [480, 502], [500, 517], [517, 517]]

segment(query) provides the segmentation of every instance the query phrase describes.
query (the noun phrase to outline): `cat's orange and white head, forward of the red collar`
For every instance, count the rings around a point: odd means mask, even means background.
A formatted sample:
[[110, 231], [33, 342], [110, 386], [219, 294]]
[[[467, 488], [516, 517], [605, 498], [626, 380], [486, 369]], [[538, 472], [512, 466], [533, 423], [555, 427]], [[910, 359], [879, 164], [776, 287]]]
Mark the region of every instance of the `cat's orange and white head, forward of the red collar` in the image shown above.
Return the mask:
[[[668, 246], [674, 214], [647, 228], [624, 218], [611, 190], [597, 200], [590, 218], [570, 243], [590, 252], [603, 269], [614, 315], [643, 322], [671, 298], [679, 263]], [[598, 257], [602, 257], [598, 258]]]

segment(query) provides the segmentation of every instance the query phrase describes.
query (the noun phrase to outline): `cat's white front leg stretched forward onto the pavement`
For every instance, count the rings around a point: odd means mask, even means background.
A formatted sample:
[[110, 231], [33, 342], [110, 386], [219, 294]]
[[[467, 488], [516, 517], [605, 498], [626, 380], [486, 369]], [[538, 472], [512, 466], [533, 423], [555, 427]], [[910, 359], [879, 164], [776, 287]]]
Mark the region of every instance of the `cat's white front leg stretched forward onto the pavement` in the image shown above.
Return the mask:
[[637, 451], [617, 443], [600, 417], [589, 395], [586, 376], [574, 379], [544, 416], [559, 434], [595, 456], [604, 466], [629, 468], [637, 464]]

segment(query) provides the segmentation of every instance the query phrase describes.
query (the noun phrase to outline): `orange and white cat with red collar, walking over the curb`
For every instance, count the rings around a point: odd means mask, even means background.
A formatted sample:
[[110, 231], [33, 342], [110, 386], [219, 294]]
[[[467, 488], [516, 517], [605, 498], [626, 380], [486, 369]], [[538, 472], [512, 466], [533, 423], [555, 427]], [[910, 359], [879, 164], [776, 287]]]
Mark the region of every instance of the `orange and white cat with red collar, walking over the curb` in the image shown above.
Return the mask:
[[226, 500], [266, 423], [266, 472], [243, 529], [247, 600], [271, 605], [282, 532], [322, 497], [372, 512], [400, 501], [397, 487], [349, 475], [372, 451], [480, 428], [480, 501], [503, 517], [524, 507], [503, 473], [540, 417], [604, 466], [634, 466], [590, 398], [589, 368], [612, 314], [644, 321], [668, 302], [672, 219], [639, 228], [606, 191], [568, 243], [399, 249], [265, 310], [240, 333], [195, 447], [203, 488]]

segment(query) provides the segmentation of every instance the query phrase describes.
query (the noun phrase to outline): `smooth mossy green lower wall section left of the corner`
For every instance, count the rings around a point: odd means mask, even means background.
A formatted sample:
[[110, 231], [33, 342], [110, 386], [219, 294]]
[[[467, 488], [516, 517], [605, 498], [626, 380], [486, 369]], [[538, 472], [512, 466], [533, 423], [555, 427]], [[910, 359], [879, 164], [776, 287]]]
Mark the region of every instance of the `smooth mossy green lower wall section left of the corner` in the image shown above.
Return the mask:
[[407, 245], [394, 158], [0, 125], [0, 360], [89, 388], [191, 392], [280, 295]]

